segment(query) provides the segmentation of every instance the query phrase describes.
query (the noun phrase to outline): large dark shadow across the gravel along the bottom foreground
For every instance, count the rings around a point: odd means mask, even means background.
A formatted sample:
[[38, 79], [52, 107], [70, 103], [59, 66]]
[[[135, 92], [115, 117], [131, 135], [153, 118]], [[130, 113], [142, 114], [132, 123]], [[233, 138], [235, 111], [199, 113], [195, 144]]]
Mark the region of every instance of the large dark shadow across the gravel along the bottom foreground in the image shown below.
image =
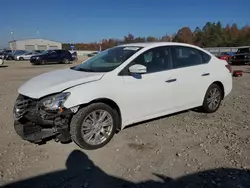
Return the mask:
[[[115, 165], [115, 164], [114, 164]], [[66, 169], [4, 185], [4, 188], [249, 188], [250, 171], [238, 169], [213, 169], [172, 179], [154, 174], [159, 181], [130, 182], [106, 174], [79, 150], [73, 151]]]

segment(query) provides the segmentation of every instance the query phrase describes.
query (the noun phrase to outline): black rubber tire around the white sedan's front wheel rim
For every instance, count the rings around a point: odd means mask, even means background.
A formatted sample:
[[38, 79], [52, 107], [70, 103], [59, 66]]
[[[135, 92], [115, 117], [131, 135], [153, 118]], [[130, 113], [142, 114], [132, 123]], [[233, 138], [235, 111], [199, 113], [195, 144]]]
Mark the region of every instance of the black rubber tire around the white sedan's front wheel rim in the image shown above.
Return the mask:
[[[81, 128], [82, 128], [82, 123], [84, 119], [93, 111], [95, 110], [105, 110], [107, 111], [113, 120], [113, 127], [111, 130], [111, 133], [109, 137], [102, 143], [98, 145], [91, 145], [87, 143], [82, 135], [81, 135]], [[104, 103], [93, 103], [90, 104], [89, 106], [86, 106], [84, 108], [81, 108], [77, 114], [75, 114], [72, 117], [71, 123], [70, 123], [70, 134], [72, 140], [82, 149], [86, 150], [95, 150], [98, 148], [101, 148], [105, 146], [106, 144], [109, 143], [109, 141], [113, 138], [117, 128], [119, 127], [119, 115], [116, 110], [112, 109], [110, 106]]]

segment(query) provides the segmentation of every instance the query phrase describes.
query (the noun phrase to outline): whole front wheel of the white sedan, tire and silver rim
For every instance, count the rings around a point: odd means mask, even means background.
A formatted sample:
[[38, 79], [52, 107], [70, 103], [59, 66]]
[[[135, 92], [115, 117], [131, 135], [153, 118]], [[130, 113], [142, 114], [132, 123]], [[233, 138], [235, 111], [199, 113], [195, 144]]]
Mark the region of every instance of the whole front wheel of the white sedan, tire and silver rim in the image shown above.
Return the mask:
[[82, 149], [98, 149], [113, 138], [118, 123], [116, 110], [104, 103], [93, 103], [73, 116], [70, 124], [71, 138]]

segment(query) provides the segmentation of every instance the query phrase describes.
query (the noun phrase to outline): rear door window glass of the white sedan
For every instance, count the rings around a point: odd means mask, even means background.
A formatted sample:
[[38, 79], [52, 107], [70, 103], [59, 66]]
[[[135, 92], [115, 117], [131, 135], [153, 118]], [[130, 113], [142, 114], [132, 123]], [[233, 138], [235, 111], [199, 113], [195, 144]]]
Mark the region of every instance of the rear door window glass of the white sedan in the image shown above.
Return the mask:
[[211, 57], [198, 49], [186, 46], [173, 47], [173, 67], [182, 68], [208, 63]]

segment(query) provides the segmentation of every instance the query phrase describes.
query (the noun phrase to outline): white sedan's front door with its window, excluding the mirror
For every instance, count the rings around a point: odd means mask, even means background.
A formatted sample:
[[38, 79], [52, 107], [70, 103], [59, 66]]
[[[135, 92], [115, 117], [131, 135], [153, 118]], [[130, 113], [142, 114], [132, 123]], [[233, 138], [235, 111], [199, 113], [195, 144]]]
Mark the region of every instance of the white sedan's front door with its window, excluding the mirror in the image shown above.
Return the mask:
[[[171, 80], [171, 58], [168, 47], [157, 47], [139, 55], [124, 70], [133, 64], [147, 67], [145, 74], [123, 75], [123, 117], [128, 124], [165, 115], [173, 110], [175, 80]], [[128, 71], [128, 70], [127, 70]], [[125, 71], [126, 72], [126, 71]], [[131, 120], [134, 120], [132, 122]]]

